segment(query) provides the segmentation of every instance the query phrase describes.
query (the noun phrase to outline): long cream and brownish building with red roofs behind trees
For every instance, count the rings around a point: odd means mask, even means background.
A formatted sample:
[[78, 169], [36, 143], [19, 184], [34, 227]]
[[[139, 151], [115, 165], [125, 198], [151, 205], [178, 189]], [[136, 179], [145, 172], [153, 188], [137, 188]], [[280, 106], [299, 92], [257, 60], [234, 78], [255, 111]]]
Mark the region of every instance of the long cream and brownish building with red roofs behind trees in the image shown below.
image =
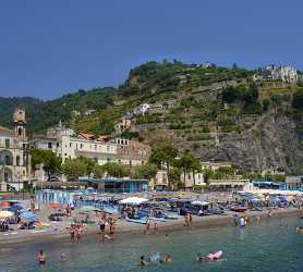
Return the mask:
[[32, 148], [51, 150], [65, 160], [85, 157], [95, 160], [98, 164], [118, 162], [129, 166], [142, 165], [147, 162], [150, 147], [137, 140], [108, 138], [81, 133], [72, 134], [70, 128], [52, 129], [46, 136], [37, 136], [32, 143]]

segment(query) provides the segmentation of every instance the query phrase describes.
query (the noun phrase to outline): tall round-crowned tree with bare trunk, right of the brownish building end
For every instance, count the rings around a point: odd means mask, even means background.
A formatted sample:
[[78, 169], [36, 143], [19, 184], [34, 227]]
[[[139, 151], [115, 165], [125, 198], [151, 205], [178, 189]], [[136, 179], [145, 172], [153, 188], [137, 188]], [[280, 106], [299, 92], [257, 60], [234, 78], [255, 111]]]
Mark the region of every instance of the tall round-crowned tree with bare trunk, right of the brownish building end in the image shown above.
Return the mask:
[[174, 147], [167, 144], [159, 144], [153, 148], [152, 154], [149, 157], [149, 162], [156, 164], [158, 169], [161, 169], [162, 164], [166, 165], [169, 187], [170, 166], [174, 163], [177, 156], [178, 150]]

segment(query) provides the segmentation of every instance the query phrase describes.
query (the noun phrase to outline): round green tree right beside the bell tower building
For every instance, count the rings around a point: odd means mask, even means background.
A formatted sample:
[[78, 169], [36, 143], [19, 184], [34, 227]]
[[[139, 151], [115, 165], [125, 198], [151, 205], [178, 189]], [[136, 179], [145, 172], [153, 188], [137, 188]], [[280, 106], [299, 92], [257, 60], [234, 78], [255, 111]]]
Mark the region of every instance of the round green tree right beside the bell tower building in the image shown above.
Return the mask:
[[33, 149], [31, 156], [32, 168], [35, 170], [38, 164], [43, 164], [43, 169], [47, 173], [48, 178], [61, 170], [62, 159], [50, 150]]

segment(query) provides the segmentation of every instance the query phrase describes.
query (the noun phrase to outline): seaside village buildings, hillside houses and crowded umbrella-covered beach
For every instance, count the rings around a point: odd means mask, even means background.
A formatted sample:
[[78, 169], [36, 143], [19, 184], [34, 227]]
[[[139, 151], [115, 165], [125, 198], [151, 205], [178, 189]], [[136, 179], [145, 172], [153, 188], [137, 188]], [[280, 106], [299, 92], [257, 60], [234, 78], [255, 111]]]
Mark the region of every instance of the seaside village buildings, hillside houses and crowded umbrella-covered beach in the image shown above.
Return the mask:
[[[291, 66], [268, 65], [254, 76], [256, 82], [276, 78], [295, 82], [298, 74]], [[60, 122], [31, 139], [25, 109], [16, 108], [12, 126], [0, 126], [1, 239], [65, 234], [71, 243], [78, 243], [88, 233], [112, 242], [120, 231], [157, 235], [172, 226], [192, 228], [206, 222], [245, 226], [276, 214], [300, 212], [303, 176], [288, 176], [280, 169], [265, 169], [258, 177], [249, 178], [233, 171], [229, 161], [192, 158], [198, 166], [178, 172], [159, 156], [157, 169], [147, 169], [153, 148], [117, 135], [130, 128], [134, 116], [168, 107], [141, 104], [116, 124], [112, 135], [75, 133]], [[47, 162], [37, 161], [39, 150], [49, 156]], [[75, 164], [69, 174], [56, 171], [57, 158], [61, 165], [84, 160], [100, 173], [77, 174], [82, 164]], [[132, 170], [138, 174], [131, 174]], [[178, 186], [170, 184], [172, 173], [179, 175], [173, 177], [180, 180]], [[268, 181], [267, 175], [283, 181]], [[303, 231], [299, 227], [298, 232]]]

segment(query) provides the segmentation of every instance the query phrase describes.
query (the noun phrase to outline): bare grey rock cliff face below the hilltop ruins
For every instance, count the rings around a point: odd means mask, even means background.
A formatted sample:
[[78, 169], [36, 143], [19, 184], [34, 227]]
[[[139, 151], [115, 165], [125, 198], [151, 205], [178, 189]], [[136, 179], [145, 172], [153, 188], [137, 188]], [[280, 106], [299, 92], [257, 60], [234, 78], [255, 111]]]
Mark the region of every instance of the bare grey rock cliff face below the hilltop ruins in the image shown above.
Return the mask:
[[268, 115], [243, 135], [219, 138], [220, 144], [215, 150], [201, 156], [230, 160], [246, 170], [281, 169], [291, 173], [303, 166], [302, 135], [295, 132], [295, 122], [282, 114]]

